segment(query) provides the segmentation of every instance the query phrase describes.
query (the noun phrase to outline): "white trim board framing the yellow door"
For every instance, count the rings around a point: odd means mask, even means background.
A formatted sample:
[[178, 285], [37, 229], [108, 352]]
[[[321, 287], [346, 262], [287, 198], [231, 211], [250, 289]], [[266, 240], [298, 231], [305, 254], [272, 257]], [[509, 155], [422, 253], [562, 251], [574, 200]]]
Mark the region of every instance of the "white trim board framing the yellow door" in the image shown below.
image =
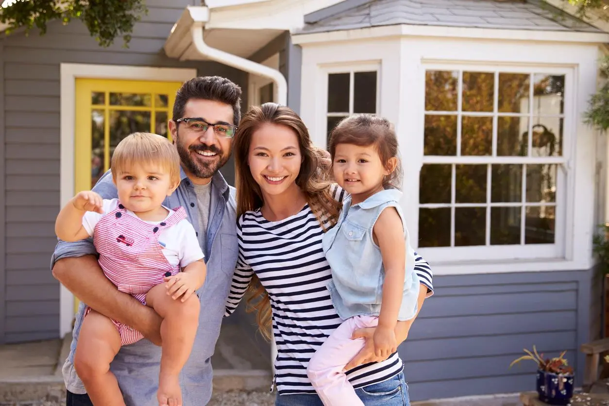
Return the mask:
[[[76, 79], [123, 79], [177, 82], [192, 79], [197, 69], [153, 68], [150, 66], [89, 65], [62, 63], [60, 65], [60, 181], [59, 204], [63, 207], [74, 195], [74, 136], [76, 127]], [[74, 295], [60, 284], [59, 334], [72, 331]]]

